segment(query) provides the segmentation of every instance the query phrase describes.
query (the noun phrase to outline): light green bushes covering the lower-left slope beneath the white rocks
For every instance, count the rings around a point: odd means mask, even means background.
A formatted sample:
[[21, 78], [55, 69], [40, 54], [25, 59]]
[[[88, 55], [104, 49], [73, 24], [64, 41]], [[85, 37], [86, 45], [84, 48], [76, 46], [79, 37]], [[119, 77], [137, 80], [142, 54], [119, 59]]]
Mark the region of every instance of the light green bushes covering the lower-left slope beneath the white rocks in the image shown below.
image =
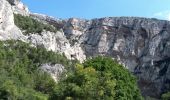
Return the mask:
[[43, 63], [68, 60], [38, 46], [30, 47], [21, 41], [0, 42], [0, 99], [47, 100], [56, 83], [39, 69]]

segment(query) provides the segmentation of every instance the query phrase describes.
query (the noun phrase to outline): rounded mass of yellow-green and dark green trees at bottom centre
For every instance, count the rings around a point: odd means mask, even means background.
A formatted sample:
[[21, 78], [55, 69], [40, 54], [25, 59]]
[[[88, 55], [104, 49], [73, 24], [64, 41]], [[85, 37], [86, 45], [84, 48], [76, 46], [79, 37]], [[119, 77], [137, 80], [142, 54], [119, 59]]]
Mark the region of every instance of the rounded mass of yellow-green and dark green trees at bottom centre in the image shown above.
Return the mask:
[[59, 100], [142, 100], [136, 78], [107, 57], [96, 57], [77, 65], [58, 84], [52, 98]]

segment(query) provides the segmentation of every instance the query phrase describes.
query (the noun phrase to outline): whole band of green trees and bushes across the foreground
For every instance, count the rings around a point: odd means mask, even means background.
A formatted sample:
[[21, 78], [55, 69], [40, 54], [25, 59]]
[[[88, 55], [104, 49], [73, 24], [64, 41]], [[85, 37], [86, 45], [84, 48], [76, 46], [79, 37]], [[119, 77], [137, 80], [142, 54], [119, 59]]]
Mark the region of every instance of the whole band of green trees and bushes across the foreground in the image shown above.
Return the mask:
[[[67, 75], [56, 83], [39, 66], [60, 63]], [[76, 64], [75, 64], [76, 63]], [[64, 77], [65, 76], [65, 77]], [[142, 100], [136, 78], [107, 57], [83, 64], [21, 41], [0, 42], [0, 99], [9, 100]]]

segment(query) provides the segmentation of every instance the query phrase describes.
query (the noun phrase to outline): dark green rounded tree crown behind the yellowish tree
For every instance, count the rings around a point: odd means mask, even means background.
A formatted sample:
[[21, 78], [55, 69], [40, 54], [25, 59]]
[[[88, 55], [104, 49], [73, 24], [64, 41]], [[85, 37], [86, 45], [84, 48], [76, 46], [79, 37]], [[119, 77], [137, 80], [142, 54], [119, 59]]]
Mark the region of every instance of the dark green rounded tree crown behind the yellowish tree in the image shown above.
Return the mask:
[[111, 79], [116, 80], [115, 100], [142, 100], [137, 87], [136, 78], [122, 65], [108, 57], [95, 57], [88, 59], [83, 64], [85, 67], [92, 66], [101, 75], [110, 73]]

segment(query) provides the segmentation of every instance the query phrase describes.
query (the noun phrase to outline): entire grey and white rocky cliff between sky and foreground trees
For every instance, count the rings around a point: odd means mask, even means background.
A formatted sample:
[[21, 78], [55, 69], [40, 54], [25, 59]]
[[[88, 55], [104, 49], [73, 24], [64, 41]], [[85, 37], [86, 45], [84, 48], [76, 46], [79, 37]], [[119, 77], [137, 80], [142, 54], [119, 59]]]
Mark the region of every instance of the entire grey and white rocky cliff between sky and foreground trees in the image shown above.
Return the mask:
[[1, 40], [20, 39], [34, 45], [42, 44], [48, 50], [65, 53], [69, 59], [81, 62], [91, 56], [111, 56], [138, 77], [144, 96], [159, 97], [170, 91], [169, 21], [138, 17], [62, 20], [22, 10], [22, 15], [60, 30], [24, 36], [14, 25], [15, 11], [6, 0], [0, 0]]

